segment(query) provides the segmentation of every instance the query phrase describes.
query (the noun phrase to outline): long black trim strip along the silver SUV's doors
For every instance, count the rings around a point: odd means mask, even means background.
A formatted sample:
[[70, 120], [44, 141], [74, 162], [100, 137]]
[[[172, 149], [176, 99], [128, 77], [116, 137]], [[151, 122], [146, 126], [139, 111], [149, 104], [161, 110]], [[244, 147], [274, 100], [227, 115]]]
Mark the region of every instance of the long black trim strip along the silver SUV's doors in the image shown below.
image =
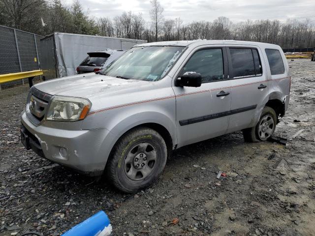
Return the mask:
[[188, 124], [194, 124], [194, 123], [206, 121], [209, 119], [216, 119], [216, 118], [234, 115], [234, 114], [241, 113], [241, 112], [247, 112], [247, 111], [256, 109], [256, 107], [257, 107], [257, 105], [253, 105], [253, 106], [243, 107], [243, 108], [239, 108], [239, 109], [235, 109], [235, 110], [231, 110], [231, 111], [227, 111], [227, 112], [220, 112], [220, 113], [206, 115], [206, 116], [202, 116], [202, 117], [183, 119], [183, 120], [179, 121], [179, 124], [181, 126], [188, 125]]

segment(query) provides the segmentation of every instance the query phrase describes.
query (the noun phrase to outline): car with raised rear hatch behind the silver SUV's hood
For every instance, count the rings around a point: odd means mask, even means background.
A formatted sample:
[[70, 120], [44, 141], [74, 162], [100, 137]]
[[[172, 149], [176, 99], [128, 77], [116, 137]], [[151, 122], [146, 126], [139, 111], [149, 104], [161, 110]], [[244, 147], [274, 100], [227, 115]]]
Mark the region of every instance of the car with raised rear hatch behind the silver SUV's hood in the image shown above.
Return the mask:
[[125, 52], [126, 50], [106, 50], [88, 53], [89, 56], [77, 67], [77, 74], [99, 71], [118, 59]]

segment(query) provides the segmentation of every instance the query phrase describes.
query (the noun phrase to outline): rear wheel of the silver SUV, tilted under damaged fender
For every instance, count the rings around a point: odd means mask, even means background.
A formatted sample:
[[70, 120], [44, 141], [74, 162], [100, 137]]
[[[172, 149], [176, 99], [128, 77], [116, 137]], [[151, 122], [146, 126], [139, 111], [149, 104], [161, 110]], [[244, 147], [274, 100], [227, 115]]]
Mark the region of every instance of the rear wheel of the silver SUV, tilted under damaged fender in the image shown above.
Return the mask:
[[277, 124], [277, 115], [274, 109], [265, 106], [255, 127], [244, 129], [245, 142], [263, 142], [274, 133]]

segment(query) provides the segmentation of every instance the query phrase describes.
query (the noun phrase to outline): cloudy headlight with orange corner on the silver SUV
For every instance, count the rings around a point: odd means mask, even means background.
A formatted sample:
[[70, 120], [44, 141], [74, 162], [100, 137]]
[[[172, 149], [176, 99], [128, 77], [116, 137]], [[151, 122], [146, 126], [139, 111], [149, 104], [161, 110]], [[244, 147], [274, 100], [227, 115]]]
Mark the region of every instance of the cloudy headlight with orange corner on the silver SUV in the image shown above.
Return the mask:
[[91, 102], [80, 97], [54, 96], [50, 102], [47, 120], [77, 121], [84, 119], [90, 108]]

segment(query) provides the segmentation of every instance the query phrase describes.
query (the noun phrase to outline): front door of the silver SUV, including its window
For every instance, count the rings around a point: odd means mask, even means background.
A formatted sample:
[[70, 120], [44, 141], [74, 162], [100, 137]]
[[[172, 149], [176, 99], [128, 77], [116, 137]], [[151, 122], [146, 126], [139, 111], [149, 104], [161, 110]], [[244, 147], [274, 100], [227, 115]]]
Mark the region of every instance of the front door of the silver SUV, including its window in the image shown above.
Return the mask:
[[178, 147], [225, 134], [229, 124], [231, 87], [225, 48], [192, 51], [177, 77], [191, 72], [201, 74], [201, 87], [173, 85]]

